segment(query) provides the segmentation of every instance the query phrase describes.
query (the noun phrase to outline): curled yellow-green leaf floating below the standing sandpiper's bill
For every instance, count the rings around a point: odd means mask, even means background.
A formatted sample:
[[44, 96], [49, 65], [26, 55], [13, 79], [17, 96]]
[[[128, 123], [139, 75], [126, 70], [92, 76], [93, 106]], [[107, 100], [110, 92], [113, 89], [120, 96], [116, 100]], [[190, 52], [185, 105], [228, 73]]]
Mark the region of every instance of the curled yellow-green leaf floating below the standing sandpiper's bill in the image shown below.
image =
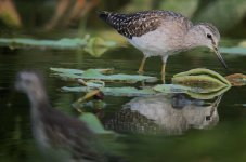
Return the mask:
[[231, 87], [231, 83], [222, 76], [202, 68], [174, 75], [172, 83], [189, 87], [186, 94], [200, 99], [213, 98]]

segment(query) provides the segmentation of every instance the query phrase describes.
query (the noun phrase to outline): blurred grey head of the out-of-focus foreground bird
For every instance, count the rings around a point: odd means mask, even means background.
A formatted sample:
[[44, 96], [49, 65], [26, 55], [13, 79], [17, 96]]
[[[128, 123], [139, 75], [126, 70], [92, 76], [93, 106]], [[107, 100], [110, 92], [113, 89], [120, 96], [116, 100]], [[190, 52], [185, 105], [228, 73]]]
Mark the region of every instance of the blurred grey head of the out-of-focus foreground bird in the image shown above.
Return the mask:
[[21, 71], [16, 75], [15, 89], [24, 93], [35, 93], [42, 90], [41, 77], [34, 71]]

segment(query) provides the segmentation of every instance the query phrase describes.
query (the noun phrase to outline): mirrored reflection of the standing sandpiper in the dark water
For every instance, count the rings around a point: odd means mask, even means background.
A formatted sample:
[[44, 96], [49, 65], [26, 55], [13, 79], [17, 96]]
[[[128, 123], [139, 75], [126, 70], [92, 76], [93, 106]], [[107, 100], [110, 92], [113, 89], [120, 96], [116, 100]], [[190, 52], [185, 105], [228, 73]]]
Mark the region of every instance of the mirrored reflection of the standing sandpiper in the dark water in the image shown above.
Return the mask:
[[220, 100], [221, 96], [208, 103], [184, 94], [137, 97], [127, 103], [105, 126], [120, 133], [181, 135], [189, 129], [215, 126], [219, 121], [217, 108]]

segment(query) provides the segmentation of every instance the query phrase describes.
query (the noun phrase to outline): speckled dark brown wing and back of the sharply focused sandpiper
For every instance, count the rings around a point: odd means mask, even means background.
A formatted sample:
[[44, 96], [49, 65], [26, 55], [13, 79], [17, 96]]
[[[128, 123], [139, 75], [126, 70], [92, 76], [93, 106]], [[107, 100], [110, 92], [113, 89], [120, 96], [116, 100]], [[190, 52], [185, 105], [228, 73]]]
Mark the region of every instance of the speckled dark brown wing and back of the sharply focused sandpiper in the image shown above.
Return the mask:
[[133, 14], [100, 12], [99, 16], [120, 35], [131, 39], [157, 29], [167, 16], [183, 17], [170, 11], [143, 11]]

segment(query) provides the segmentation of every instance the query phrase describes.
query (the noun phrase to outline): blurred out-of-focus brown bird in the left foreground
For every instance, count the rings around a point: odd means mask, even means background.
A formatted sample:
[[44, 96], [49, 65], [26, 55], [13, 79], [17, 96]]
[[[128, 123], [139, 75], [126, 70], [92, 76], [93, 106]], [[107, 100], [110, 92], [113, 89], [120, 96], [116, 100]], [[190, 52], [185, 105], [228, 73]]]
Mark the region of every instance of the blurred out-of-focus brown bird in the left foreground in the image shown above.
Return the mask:
[[28, 95], [31, 131], [49, 161], [107, 161], [85, 122], [52, 108], [41, 80], [35, 72], [22, 71], [16, 76], [15, 87]]

